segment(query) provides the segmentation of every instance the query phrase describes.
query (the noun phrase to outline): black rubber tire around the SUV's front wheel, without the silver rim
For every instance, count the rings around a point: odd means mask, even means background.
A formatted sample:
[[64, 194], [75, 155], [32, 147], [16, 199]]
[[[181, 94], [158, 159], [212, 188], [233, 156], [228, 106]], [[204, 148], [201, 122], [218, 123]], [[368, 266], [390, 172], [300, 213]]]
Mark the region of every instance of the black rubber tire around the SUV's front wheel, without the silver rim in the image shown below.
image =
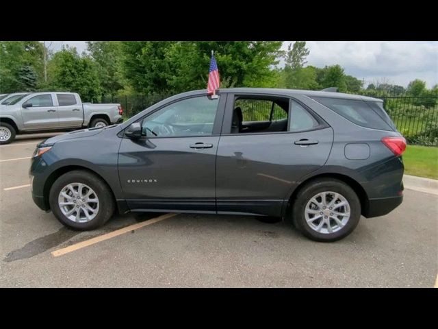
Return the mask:
[[[62, 213], [60, 206], [58, 205], [58, 196], [62, 191], [62, 188], [70, 183], [82, 183], [90, 186], [99, 198], [99, 210], [96, 217], [90, 221], [77, 223], [68, 219]], [[94, 230], [95, 228], [103, 226], [103, 224], [112, 217], [115, 209], [112, 192], [107, 184], [105, 184], [100, 178], [96, 177], [93, 173], [84, 170], [69, 171], [55, 180], [50, 189], [49, 203], [53, 215], [55, 215], [62, 224], [69, 228], [83, 231]]]

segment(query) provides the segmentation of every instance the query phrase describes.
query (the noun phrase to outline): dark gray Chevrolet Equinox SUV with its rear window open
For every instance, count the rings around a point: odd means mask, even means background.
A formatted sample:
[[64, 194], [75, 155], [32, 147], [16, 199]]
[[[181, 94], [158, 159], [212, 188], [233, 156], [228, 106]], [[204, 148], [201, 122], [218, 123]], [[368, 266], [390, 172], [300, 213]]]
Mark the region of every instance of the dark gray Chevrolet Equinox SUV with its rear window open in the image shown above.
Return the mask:
[[120, 125], [43, 141], [32, 197], [77, 230], [114, 210], [283, 217], [335, 241], [402, 202], [406, 142], [383, 101], [268, 88], [175, 95]]

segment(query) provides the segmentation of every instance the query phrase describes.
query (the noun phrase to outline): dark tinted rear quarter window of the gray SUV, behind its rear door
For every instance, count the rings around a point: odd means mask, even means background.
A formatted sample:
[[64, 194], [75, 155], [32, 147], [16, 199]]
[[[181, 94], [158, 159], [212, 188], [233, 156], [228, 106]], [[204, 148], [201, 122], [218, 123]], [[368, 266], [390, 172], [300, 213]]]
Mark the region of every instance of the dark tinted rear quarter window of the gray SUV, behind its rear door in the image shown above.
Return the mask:
[[348, 121], [361, 125], [362, 127], [378, 130], [394, 130], [375, 110], [365, 101], [352, 99], [339, 99], [329, 97], [312, 97], [318, 103], [330, 108]]

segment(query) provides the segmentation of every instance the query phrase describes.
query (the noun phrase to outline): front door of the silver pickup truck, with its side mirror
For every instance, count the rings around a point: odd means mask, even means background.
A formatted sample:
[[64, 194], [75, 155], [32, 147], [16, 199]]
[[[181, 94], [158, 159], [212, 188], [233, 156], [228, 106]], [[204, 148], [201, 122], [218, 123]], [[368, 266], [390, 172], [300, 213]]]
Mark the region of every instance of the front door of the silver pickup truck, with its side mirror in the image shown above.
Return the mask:
[[[30, 97], [21, 102], [25, 130], [49, 130], [58, 127], [57, 110], [51, 93]], [[28, 107], [23, 107], [27, 104]]]

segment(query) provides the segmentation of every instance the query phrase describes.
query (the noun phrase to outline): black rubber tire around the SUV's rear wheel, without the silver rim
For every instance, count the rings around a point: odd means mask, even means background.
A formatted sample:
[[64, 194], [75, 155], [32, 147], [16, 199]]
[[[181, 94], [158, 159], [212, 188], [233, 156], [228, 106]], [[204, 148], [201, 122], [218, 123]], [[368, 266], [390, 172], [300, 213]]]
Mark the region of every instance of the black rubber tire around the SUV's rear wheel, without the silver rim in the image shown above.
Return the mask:
[[[350, 219], [348, 219], [346, 225], [336, 232], [325, 234], [313, 230], [305, 219], [305, 207], [307, 206], [307, 202], [309, 202], [314, 195], [324, 191], [339, 193], [344, 196], [348, 201], [348, 204], [350, 204]], [[307, 236], [309, 239], [322, 242], [333, 242], [343, 239], [353, 230], [355, 230], [360, 218], [361, 202], [359, 201], [359, 197], [357, 197], [355, 191], [353, 191], [348, 184], [335, 178], [321, 178], [309, 182], [309, 184], [304, 186], [298, 192], [298, 195], [294, 200], [294, 208], [292, 210], [292, 219], [296, 228], [298, 228], [298, 230], [300, 230], [302, 234]]]

